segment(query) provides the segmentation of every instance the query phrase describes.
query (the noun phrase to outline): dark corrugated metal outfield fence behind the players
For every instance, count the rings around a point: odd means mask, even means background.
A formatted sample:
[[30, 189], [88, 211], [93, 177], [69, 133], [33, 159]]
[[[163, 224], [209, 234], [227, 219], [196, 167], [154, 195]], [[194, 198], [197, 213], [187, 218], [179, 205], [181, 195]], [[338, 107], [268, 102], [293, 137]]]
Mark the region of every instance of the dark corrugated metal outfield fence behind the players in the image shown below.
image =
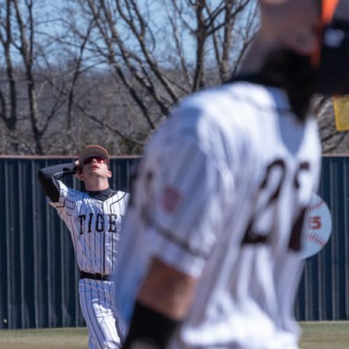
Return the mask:
[[[112, 187], [128, 190], [137, 158], [112, 158]], [[64, 224], [48, 207], [40, 168], [69, 157], [0, 157], [0, 329], [84, 325], [78, 269]], [[73, 177], [68, 185], [80, 188]], [[322, 158], [320, 195], [334, 230], [325, 249], [306, 262], [299, 287], [299, 320], [349, 319], [349, 157]]]

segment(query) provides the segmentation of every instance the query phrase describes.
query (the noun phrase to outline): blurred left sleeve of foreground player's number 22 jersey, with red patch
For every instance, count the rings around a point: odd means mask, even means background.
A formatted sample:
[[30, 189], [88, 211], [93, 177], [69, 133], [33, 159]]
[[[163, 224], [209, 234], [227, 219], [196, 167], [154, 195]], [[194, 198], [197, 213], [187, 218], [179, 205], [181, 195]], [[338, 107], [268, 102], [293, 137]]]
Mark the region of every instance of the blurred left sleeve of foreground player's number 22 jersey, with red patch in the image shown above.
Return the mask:
[[188, 119], [170, 123], [171, 131], [162, 132], [147, 151], [141, 168], [147, 203], [141, 216], [154, 234], [153, 255], [198, 277], [221, 230], [232, 181], [230, 174], [224, 178], [224, 160], [214, 150], [221, 146], [219, 132], [200, 119], [202, 111], [182, 112]]

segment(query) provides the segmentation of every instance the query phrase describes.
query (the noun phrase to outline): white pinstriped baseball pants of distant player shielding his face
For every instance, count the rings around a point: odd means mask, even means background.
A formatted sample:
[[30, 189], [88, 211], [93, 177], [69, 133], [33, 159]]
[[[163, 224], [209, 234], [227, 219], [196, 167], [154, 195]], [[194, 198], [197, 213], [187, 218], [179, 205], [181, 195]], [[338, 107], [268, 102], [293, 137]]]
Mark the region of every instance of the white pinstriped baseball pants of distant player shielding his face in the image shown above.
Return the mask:
[[80, 279], [80, 306], [89, 329], [89, 348], [120, 348], [125, 327], [112, 301], [112, 281]]

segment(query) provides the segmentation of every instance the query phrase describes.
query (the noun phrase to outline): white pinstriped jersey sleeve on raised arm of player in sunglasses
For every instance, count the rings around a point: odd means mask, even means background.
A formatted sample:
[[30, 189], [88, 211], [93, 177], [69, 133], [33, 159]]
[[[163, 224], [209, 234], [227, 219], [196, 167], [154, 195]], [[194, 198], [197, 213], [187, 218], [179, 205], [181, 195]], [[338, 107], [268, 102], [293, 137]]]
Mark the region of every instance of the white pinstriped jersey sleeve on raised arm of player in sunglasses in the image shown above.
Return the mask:
[[47, 198], [49, 205], [57, 209], [59, 217], [66, 223], [69, 218], [73, 216], [75, 210], [75, 204], [79, 191], [73, 188], [69, 188], [62, 181], [57, 181], [59, 184], [59, 200], [58, 202], [52, 202], [50, 198]]

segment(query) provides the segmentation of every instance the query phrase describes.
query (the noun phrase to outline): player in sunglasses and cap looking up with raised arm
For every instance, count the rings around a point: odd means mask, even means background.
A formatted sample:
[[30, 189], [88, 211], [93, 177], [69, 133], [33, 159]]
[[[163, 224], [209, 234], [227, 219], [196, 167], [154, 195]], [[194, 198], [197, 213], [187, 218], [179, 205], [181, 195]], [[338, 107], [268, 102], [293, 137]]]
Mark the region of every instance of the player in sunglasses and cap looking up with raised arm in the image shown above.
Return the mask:
[[[86, 192], [61, 179], [75, 174]], [[112, 300], [113, 272], [128, 194], [113, 191], [106, 149], [85, 147], [75, 163], [43, 168], [38, 178], [48, 202], [66, 223], [80, 268], [80, 306], [89, 329], [89, 348], [119, 348], [124, 327]]]

